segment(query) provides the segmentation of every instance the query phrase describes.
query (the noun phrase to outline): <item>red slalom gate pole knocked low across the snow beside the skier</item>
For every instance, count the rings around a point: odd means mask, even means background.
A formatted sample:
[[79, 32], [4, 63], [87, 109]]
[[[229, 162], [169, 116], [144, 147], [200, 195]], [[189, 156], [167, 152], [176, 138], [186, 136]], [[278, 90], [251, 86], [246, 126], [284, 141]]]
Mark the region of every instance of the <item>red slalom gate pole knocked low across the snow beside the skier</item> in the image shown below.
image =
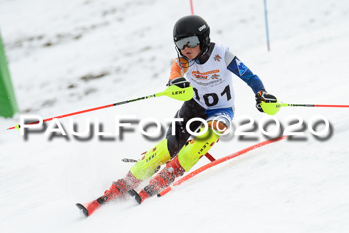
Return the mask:
[[282, 137], [279, 137], [279, 138], [266, 140], [264, 142], [257, 143], [255, 145], [250, 146], [248, 148], [245, 148], [245, 149], [243, 149], [241, 151], [235, 152], [235, 153], [233, 153], [231, 155], [225, 156], [225, 157], [223, 157], [221, 159], [218, 159], [218, 160], [215, 160], [215, 161], [213, 161], [213, 162], [211, 162], [209, 164], [206, 164], [205, 166], [202, 166], [201, 168], [196, 169], [195, 171], [189, 173], [188, 175], [186, 175], [185, 177], [181, 178], [180, 180], [174, 182], [174, 184], [172, 186], [169, 186], [166, 189], [164, 189], [163, 191], [161, 191], [158, 194], [158, 197], [162, 197], [165, 194], [167, 194], [168, 192], [170, 192], [171, 191], [171, 187], [178, 186], [181, 183], [183, 183], [184, 181], [189, 180], [191, 177], [196, 176], [197, 174], [199, 174], [199, 173], [201, 173], [201, 172], [203, 172], [203, 171], [205, 171], [205, 170], [207, 170], [207, 169], [209, 169], [209, 168], [211, 168], [213, 166], [216, 166], [217, 164], [223, 163], [223, 162], [225, 162], [227, 160], [230, 160], [232, 158], [235, 158], [235, 157], [237, 157], [239, 155], [245, 154], [246, 152], [252, 151], [252, 150], [254, 150], [254, 149], [258, 148], [258, 147], [261, 147], [261, 146], [268, 145], [268, 144], [273, 143], [273, 142], [277, 142], [277, 141], [283, 140], [283, 139], [285, 139], [287, 137], [288, 136], [285, 135], [285, 136], [282, 136]]

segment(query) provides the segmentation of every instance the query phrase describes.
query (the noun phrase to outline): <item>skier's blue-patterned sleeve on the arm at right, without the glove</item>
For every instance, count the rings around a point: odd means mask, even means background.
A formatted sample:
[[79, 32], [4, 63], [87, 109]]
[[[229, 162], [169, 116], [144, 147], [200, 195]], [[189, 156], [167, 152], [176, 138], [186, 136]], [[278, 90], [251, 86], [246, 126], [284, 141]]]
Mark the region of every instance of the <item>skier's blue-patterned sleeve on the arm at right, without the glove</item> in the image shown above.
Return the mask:
[[253, 74], [252, 71], [229, 50], [226, 50], [224, 60], [227, 69], [247, 83], [255, 94], [260, 90], [265, 90], [260, 78]]

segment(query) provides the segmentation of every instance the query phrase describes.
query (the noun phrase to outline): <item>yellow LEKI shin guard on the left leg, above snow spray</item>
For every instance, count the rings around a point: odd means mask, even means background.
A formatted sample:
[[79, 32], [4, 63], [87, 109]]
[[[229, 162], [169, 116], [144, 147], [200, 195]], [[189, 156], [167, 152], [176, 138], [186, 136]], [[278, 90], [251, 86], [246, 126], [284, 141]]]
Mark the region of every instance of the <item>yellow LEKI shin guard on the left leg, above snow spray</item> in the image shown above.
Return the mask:
[[145, 180], [152, 177], [159, 170], [159, 166], [166, 164], [170, 160], [167, 139], [165, 139], [147, 151], [142, 159], [131, 167], [130, 172], [137, 179]]

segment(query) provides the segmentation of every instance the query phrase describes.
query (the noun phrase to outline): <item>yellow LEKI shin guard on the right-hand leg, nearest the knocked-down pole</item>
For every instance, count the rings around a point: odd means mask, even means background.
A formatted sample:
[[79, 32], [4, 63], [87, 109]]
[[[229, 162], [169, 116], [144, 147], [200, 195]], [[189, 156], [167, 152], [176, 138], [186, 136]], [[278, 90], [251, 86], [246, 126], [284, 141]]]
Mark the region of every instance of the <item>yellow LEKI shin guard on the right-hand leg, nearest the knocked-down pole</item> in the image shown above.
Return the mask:
[[[200, 131], [203, 129], [201, 128]], [[186, 172], [211, 149], [213, 144], [217, 142], [220, 133], [209, 127], [205, 134], [196, 136], [195, 140], [189, 141], [187, 145], [182, 147], [178, 154], [178, 161]]]

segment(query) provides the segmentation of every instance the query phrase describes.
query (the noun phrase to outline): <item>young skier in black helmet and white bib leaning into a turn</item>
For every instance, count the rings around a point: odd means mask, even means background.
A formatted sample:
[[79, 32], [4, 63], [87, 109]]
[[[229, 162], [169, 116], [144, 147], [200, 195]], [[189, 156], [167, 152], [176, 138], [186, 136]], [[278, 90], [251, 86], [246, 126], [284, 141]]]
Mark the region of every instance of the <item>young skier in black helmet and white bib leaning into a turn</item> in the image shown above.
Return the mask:
[[[174, 60], [167, 85], [185, 88], [191, 84], [194, 96], [185, 101], [174, 115], [174, 118], [183, 119], [175, 123], [174, 135], [170, 126], [166, 139], [152, 147], [123, 179], [113, 182], [102, 197], [83, 205], [76, 204], [86, 217], [101, 205], [121, 199], [127, 193], [134, 196], [138, 203], [143, 202], [168, 187], [176, 177], [188, 172], [207, 153], [224, 129], [229, 128], [234, 116], [231, 72], [252, 88], [260, 112], [263, 112], [260, 106], [262, 101], [277, 101], [275, 96], [266, 92], [259, 77], [227, 47], [210, 42], [209, 33], [208, 24], [197, 15], [184, 16], [174, 24], [178, 58]], [[206, 133], [187, 142], [190, 133], [185, 126], [192, 118], [204, 119], [209, 127]], [[190, 130], [195, 132], [200, 125], [201, 122], [194, 121], [190, 124]], [[204, 128], [199, 130], [202, 132]], [[152, 177], [163, 164], [166, 167], [151, 179], [148, 186], [138, 192], [133, 190]]]

